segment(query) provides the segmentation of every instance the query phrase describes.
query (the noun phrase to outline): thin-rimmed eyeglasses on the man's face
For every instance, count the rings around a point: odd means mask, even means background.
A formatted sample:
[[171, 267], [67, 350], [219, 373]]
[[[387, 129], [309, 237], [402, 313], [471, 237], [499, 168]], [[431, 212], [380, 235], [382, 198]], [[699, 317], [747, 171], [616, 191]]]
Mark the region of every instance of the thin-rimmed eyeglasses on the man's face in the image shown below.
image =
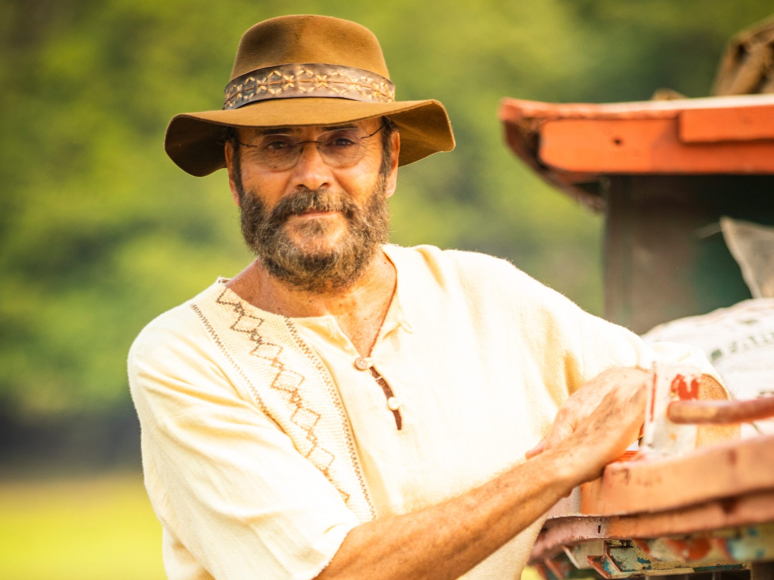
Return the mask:
[[365, 155], [366, 139], [373, 137], [387, 126], [379, 127], [372, 134], [358, 128], [336, 129], [327, 131], [315, 141], [300, 141], [293, 135], [264, 135], [258, 144], [238, 142], [239, 145], [252, 149], [253, 159], [272, 171], [293, 169], [298, 163], [307, 143], [314, 143], [320, 157], [331, 167], [348, 167], [354, 165]]

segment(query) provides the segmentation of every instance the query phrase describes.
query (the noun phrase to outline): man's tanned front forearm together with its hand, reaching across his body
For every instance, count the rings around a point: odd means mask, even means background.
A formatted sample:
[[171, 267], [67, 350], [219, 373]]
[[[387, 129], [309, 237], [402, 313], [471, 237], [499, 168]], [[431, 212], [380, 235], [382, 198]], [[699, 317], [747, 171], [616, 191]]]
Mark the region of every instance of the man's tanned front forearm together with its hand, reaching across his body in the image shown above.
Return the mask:
[[563, 441], [464, 495], [416, 513], [355, 527], [318, 576], [452, 580], [598, 477], [637, 438], [648, 383], [618, 380]]

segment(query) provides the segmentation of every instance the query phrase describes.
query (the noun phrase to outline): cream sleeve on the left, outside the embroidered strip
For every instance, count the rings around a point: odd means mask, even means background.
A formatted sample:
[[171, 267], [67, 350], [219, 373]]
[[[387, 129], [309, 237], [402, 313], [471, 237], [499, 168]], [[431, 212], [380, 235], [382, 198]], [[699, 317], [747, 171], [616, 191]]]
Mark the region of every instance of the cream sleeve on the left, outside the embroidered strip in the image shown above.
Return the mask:
[[[152, 322], [132, 346], [129, 384], [153, 507], [217, 580], [314, 578], [358, 520], [238, 394], [218, 356], [197, 321], [180, 313]], [[175, 562], [165, 555], [165, 565], [169, 572]]]

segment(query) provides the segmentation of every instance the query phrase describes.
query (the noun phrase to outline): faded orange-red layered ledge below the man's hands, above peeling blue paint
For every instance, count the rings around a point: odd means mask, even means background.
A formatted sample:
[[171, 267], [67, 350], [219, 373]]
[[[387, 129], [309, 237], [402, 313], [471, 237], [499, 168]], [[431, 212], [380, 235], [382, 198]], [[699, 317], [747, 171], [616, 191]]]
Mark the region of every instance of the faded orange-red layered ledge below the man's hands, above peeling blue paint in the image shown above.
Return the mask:
[[774, 436], [671, 459], [611, 464], [557, 503], [533, 558], [598, 539], [663, 537], [774, 521]]

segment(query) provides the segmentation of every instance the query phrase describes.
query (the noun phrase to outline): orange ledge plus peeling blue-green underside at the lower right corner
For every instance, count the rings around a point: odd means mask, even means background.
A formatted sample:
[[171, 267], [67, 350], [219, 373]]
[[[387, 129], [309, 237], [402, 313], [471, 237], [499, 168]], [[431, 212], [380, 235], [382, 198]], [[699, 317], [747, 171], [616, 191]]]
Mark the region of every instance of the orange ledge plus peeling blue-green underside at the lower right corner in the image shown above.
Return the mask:
[[774, 560], [774, 436], [617, 462], [550, 511], [547, 580], [748, 570]]

